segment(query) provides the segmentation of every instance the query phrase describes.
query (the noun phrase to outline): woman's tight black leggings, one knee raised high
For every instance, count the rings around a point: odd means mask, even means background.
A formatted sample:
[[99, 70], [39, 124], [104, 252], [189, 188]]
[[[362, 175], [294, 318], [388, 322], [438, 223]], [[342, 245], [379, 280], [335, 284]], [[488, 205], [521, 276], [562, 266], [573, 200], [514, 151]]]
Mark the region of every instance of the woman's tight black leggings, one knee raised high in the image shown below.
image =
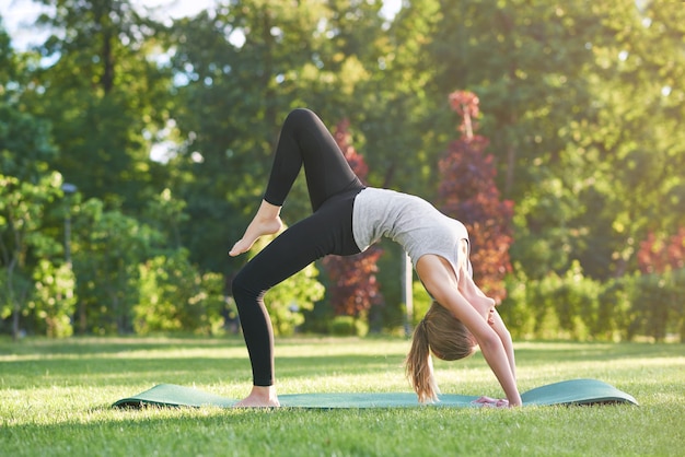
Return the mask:
[[282, 206], [303, 164], [314, 213], [276, 237], [233, 280], [255, 386], [274, 384], [274, 330], [264, 305], [266, 292], [328, 254], [359, 254], [352, 206], [364, 186], [321, 119], [309, 109], [295, 109], [283, 122], [264, 199]]

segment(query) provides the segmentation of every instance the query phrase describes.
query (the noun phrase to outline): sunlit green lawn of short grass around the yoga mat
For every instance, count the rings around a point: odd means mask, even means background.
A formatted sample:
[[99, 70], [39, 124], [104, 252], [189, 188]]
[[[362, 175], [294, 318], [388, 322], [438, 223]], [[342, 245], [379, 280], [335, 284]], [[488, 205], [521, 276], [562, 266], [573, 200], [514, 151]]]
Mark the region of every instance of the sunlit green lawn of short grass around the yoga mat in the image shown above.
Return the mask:
[[[403, 339], [277, 341], [280, 394], [408, 391]], [[682, 344], [516, 345], [521, 391], [591, 377], [640, 407], [118, 410], [155, 384], [240, 398], [242, 339], [0, 340], [3, 456], [685, 456]], [[500, 396], [478, 354], [436, 365], [444, 392]]]

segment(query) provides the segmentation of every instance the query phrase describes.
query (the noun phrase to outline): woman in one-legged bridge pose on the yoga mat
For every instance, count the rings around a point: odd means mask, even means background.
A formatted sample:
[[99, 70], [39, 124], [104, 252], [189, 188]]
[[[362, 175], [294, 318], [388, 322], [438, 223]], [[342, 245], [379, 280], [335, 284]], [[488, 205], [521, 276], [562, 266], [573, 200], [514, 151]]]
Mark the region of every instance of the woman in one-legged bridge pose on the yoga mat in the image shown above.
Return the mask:
[[478, 401], [521, 405], [511, 337], [495, 301], [472, 279], [464, 225], [418, 197], [363, 186], [311, 110], [295, 109], [286, 118], [262, 204], [229, 255], [245, 253], [262, 235], [280, 231], [280, 209], [303, 165], [313, 214], [276, 237], [233, 280], [253, 371], [252, 391], [236, 407], [279, 406], [265, 293], [316, 259], [359, 254], [381, 236], [405, 248], [434, 300], [415, 330], [406, 361], [419, 401], [436, 400], [439, 394], [431, 351], [440, 359], [457, 360], [472, 354], [478, 344], [507, 396], [506, 400], [483, 397]]

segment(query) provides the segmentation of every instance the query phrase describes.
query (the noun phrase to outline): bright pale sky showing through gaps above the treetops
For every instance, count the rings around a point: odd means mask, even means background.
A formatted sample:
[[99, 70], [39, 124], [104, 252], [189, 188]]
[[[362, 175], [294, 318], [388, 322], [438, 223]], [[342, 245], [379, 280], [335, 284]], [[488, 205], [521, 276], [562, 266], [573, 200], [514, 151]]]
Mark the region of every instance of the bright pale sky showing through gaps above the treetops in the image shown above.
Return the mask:
[[[195, 15], [214, 4], [218, 0], [131, 0], [140, 8], [164, 7], [158, 20]], [[220, 0], [219, 0], [220, 1]], [[383, 0], [383, 13], [392, 17], [402, 4], [402, 0]], [[31, 27], [34, 20], [45, 10], [45, 7], [32, 0], [0, 0], [0, 15], [2, 24], [12, 37], [12, 47], [26, 49], [32, 45], [43, 43], [45, 34], [37, 33]]]

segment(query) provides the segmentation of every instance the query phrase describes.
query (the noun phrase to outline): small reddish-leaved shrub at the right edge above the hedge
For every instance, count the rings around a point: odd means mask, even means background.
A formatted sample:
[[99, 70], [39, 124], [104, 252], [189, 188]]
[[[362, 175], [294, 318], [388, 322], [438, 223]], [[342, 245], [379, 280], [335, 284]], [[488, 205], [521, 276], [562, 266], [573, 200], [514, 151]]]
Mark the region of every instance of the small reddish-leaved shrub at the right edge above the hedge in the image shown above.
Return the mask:
[[653, 233], [640, 243], [638, 265], [642, 273], [663, 273], [667, 270], [685, 268], [685, 227], [666, 241], [660, 241]]

